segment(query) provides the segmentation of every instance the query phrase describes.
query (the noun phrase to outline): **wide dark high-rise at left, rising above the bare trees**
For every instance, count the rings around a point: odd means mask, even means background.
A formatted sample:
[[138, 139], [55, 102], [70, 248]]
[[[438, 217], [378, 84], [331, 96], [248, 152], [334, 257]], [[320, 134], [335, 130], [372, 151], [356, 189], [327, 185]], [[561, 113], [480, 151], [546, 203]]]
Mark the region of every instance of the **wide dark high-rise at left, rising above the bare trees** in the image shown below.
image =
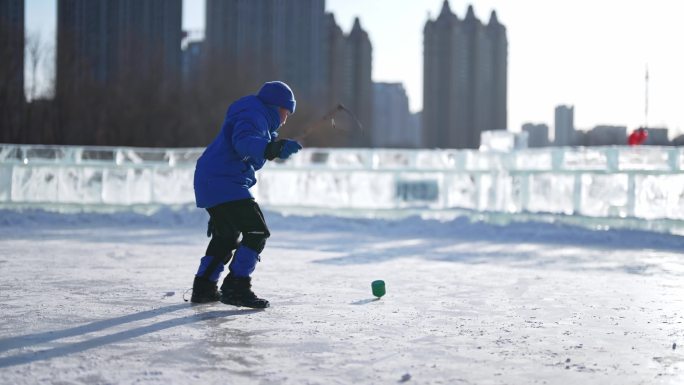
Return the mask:
[[181, 78], [182, 0], [58, 0], [57, 95]]

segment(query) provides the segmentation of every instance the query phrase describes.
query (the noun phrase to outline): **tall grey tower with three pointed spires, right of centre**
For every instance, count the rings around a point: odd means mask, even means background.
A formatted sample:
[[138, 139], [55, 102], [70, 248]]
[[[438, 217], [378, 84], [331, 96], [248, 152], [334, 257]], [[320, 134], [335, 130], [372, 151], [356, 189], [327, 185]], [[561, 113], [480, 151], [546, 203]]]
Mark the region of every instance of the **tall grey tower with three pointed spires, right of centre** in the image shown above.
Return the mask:
[[472, 6], [463, 20], [445, 0], [424, 28], [423, 132], [427, 147], [478, 148], [480, 133], [506, 129], [506, 28], [485, 26]]

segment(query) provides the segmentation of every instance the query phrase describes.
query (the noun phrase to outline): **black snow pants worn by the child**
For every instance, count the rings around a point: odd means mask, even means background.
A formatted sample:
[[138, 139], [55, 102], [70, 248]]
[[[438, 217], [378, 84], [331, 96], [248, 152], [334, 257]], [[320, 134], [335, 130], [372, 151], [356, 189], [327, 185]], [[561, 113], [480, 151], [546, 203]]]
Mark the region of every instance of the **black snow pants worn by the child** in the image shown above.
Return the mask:
[[207, 211], [210, 216], [207, 235], [211, 236], [211, 241], [205, 255], [214, 258], [205, 270], [205, 275], [211, 275], [219, 263], [228, 264], [233, 251], [239, 245], [249, 247], [257, 253], [264, 250], [266, 239], [271, 233], [266, 226], [264, 214], [254, 199], [221, 203]]

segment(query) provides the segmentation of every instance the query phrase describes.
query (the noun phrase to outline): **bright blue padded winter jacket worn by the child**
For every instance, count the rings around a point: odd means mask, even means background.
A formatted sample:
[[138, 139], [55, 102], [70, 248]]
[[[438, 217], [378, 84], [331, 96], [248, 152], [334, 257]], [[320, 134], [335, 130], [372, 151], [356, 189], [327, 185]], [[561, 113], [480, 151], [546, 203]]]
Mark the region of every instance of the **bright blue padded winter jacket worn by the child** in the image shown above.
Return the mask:
[[195, 166], [197, 207], [252, 198], [254, 175], [266, 163], [266, 145], [277, 136], [280, 117], [275, 108], [256, 96], [230, 105], [221, 132], [204, 150]]

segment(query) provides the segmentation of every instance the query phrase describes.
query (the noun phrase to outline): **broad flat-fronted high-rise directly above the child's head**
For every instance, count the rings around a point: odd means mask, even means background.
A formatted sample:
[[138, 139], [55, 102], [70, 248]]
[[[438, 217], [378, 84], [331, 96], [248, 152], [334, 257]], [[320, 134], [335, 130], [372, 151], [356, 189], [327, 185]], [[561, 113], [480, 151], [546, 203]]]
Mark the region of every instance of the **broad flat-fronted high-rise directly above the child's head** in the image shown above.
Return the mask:
[[207, 0], [207, 58], [252, 83], [282, 80], [307, 104], [322, 104], [328, 23], [325, 0]]

